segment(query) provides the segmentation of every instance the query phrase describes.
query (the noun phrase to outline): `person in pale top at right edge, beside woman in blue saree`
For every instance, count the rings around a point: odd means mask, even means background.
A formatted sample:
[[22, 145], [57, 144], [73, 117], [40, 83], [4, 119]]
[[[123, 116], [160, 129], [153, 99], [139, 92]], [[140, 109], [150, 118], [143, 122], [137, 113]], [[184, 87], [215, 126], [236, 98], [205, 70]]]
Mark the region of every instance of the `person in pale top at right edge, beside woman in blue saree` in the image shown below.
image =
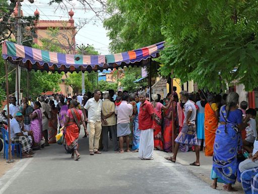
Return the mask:
[[248, 121], [248, 126], [245, 128], [246, 131], [246, 138], [243, 140], [243, 148], [248, 152], [252, 152], [252, 147], [255, 138], [257, 137], [256, 131], [256, 111], [254, 109], [248, 109], [246, 112], [246, 117], [249, 117], [250, 120]]

